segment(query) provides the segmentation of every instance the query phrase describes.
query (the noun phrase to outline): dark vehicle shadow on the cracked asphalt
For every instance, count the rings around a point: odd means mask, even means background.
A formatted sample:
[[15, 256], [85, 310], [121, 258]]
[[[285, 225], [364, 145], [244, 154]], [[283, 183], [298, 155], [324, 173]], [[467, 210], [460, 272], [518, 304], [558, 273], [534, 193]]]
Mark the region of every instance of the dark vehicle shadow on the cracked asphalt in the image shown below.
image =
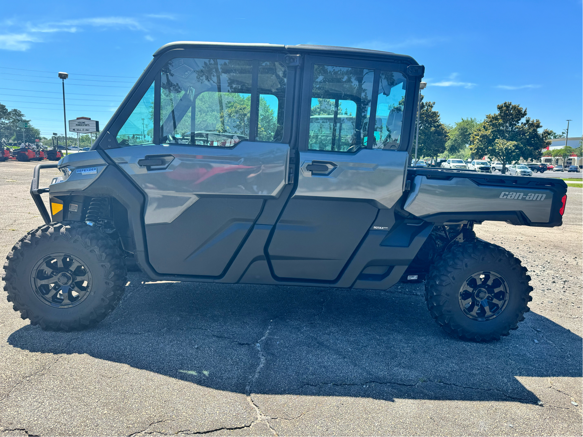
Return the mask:
[[427, 312], [423, 284], [370, 291], [129, 280], [118, 308], [93, 329], [28, 325], [8, 342], [238, 393], [536, 403], [515, 377], [583, 371], [581, 337], [533, 312], [500, 341], [452, 338]]

